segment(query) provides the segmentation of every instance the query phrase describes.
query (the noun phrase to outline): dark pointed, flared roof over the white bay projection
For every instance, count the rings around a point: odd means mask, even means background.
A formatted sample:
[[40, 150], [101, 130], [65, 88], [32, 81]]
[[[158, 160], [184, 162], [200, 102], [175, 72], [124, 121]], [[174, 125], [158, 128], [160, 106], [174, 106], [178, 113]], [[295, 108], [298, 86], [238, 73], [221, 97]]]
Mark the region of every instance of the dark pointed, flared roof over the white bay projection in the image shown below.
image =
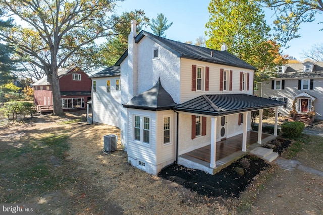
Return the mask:
[[160, 80], [151, 89], [133, 97], [127, 104], [126, 108], [136, 108], [143, 110], [169, 110], [174, 107], [172, 96], [161, 86]]

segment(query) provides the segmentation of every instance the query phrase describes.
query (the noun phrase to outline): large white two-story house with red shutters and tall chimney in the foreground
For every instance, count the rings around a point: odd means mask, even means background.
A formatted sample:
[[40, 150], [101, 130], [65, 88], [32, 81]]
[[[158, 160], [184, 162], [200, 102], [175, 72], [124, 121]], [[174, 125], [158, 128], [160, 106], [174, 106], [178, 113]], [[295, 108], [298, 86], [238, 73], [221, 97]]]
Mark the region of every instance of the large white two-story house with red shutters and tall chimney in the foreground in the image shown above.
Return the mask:
[[[224, 164], [217, 160], [220, 142], [239, 135], [238, 151], [247, 151], [251, 111], [260, 110], [261, 115], [263, 109], [285, 104], [252, 96], [255, 68], [227, 52], [226, 46], [219, 51], [145, 31], [137, 35], [134, 20], [128, 50], [115, 66], [121, 73], [122, 144], [129, 163], [149, 174], [174, 162], [213, 174]], [[105, 105], [94, 102], [94, 113], [104, 111], [97, 114], [104, 117], [110, 100], [106, 93], [98, 95], [97, 102]], [[261, 132], [256, 136], [261, 143]], [[208, 147], [208, 159], [188, 156], [203, 147]]]

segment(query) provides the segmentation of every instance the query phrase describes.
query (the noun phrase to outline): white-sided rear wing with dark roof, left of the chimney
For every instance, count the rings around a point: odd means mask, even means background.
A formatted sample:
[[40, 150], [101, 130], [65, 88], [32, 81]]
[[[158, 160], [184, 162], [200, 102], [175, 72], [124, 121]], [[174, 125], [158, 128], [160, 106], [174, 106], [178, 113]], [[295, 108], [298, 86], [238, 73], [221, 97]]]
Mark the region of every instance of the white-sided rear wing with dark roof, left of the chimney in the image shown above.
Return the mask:
[[120, 126], [120, 66], [111, 66], [89, 77], [92, 80], [92, 121]]

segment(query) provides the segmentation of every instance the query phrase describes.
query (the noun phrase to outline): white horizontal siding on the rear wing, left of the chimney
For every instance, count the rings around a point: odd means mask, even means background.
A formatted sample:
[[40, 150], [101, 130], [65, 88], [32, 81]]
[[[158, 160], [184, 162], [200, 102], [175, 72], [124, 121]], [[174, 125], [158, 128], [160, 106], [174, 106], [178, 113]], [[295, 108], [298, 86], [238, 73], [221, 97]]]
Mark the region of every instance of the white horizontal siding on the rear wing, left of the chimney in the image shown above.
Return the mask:
[[[92, 92], [93, 122], [119, 127], [120, 90], [116, 90], [116, 80], [120, 77], [93, 78], [96, 92]], [[106, 80], [111, 81], [111, 92], [106, 92]]]

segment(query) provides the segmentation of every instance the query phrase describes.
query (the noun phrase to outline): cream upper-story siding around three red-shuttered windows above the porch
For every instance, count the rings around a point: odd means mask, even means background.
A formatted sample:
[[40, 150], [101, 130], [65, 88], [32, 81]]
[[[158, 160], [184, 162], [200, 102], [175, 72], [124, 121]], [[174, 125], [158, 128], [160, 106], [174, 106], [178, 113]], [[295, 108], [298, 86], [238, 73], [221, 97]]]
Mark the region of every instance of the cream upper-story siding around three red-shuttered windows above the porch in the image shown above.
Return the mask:
[[[209, 67], [209, 90], [192, 91], [192, 65]], [[232, 91], [220, 91], [220, 69], [232, 70]], [[249, 73], [249, 90], [240, 91], [240, 72]], [[236, 94], [244, 93], [252, 95], [253, 91], [253, 70], [226, 66], [190, 59], [181, 59], [181, 102], [186, 102], [203, 94]]]

